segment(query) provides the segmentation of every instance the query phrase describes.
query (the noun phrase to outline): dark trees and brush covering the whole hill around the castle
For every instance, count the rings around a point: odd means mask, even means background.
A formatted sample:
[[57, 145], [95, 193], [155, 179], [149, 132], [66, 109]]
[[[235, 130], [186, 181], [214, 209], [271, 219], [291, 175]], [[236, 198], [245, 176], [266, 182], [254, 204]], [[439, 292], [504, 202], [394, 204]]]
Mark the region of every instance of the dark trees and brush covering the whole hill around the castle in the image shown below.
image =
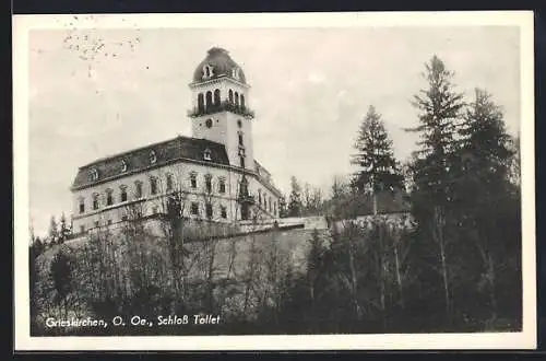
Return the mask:
[[[415, 96], [422, 141], [400, 165], [370, 107], [348, 183], [329, 199], [297, 179], [283, 216], [327, 214], [328, 231], [280, 231], [219, 240], [209, 223], [180, 221], [169, 197], [163, 235], [138, 218], [80, 246], [33, 242], [32, 335], [245, 335], [518, 331], [522, 327], [519, 144], [502, 113], [477, 90], [471, 103], [434, 57]], [[406, 189], [406, 216], [378, 213], [379, 195]], [[133, 210], [134, 211], [134, 210]], [[135, 211], [138, 213], [138, 211]], [[260, 214], [254, 214], [259, 220]], [[256, 223], [258, 224], [258, 222]], [[193, 236], [193, 235], [192, 235]], [[203, 241], [204, 240], [204, 241]], [[287, 246], [289, 244], [289, 246]], [[297, 247], [305, 245], [305, 247]], [[299, 258], [298, 258], [299, 257]], [[298, 260], [299, 259], [299, 260]], [[219, 325], [50, 329], [47, 317], [212, 314]]]

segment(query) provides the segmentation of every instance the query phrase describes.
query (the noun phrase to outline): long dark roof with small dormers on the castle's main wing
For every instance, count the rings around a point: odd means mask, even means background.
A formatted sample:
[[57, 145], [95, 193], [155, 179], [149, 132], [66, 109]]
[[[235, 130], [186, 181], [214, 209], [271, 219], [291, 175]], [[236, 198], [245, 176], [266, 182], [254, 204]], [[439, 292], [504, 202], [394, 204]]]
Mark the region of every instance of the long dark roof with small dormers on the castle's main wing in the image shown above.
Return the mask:
[[[205, 151], [210, 151], [210, 160], [205, 160]], [[152, 154], [156, 161], [151, 162]], [[191, 160], [229, 165], [224, 144], [206, 139], [177, 137], [175, 139], [133, 149], [123, 153], [96, 160], [81, 166], [72, 184], [73, 189], [87, 187], [116, 176], [142, 172], [150, 167], [165, 165], [175, 160]], [[127, 170], [123, 171], [123, 163]], [[96, 171], [98, 178], [93, 178]]]

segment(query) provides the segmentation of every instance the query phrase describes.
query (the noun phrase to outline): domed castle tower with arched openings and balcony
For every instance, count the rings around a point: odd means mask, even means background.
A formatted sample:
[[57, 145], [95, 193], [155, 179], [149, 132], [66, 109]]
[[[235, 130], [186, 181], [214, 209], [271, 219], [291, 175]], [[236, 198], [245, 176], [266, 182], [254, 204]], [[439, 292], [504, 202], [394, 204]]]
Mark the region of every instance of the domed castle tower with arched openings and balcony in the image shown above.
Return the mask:
[[222, 48], [213, 47], [193, 73], [192, 137], [222, 143], [229, 164], [253, 168], [249, 89], [242, 69]]

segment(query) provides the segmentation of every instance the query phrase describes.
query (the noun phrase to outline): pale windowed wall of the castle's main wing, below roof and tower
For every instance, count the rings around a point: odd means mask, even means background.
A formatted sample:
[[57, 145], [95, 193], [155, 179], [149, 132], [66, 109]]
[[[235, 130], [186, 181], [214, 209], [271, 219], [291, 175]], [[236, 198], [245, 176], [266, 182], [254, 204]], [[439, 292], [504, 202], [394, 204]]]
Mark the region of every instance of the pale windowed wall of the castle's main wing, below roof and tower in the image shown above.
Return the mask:
[[[241, 220], [240, 205], [237, 202], [242, 172], [236, 167], [216, 167], [206, 163], [176, 163], [147, 172], [129, 174], [123, 177], [107, 180], [93, 187], [73, 191], [73, 226], [74, 231], [86, 231], [97, 225], [107, 225], [123, 220], [131, 207], [142, 210], [142, 216], [152, 216], [166, 211], [167, 175], [173, 177], [174, 189], [182, 190], [185, 201], [182, 214], [188, 218], [206, 219], [206, 203], [213, 208], [212, 220], [217, 222], [234, 222]], [[192, 176], [195, 176], [195, 187], [192, 187]], [[206, 189], [206, 176], [211, 177], [211, 191]], [[152, 182], [157, 184], [156, 194], [152, 194]], [[275, 189], [260, 182], [256, 176], [248, 176], [248, 190], [254, 198], [252, 211], [264, 219], [278, 217], [278, 195]], [[225, 191], [221, 191], [221, 183], [225, 182]], [[136, 195], [136, 184], [142, 185], [142, 196]], [[121, 200], [122, 189], [126, 189], [127, 200]], [[108, 193], [111, 193], [111, 205], [108, 205]], [[97, 209], [94, 209], [94, 197]], [[83, 202], [83, 212], [80, 212]], [[192, 213], [192, 203], [199, 206], [198, 214]], [[223, 218], [222, 207], [226, 217]], [[98, 222], [98, 223], [97, 223]]]

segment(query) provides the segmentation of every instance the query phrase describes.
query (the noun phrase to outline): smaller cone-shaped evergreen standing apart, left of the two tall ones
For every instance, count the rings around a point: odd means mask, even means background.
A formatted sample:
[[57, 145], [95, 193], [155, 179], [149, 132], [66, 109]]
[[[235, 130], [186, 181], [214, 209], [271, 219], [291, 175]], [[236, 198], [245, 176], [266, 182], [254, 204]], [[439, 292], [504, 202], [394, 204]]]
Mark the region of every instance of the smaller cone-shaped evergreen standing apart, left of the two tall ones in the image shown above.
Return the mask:
[[351, 163], [360, 170], [353, 178], [353, 187], [373, 197], [373, 213], [377, 213], [377, 193], [384, 189], [401, 189], [403, 178], [392, 151], [381, 115], [370, 105], [355, 143], [357, 153]]

